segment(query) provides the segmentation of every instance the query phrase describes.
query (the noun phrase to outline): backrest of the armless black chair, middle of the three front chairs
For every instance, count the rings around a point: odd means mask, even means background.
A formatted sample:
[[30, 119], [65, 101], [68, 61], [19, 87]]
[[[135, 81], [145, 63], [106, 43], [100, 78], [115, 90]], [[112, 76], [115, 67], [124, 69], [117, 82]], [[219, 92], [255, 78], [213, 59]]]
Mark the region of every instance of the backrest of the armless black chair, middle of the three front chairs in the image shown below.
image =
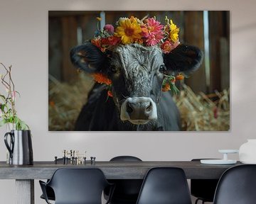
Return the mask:
[[183, 169], [156, 167], [146, 174], [137, 204], [191, 204]]

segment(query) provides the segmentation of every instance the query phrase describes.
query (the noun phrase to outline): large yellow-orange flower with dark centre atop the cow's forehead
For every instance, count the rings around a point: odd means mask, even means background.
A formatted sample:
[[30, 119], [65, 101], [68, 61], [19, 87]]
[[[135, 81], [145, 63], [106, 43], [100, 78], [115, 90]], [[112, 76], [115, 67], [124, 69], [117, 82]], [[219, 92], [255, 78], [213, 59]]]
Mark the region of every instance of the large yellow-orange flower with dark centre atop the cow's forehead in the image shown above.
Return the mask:
[[124, 18], [119, 20], [119, 26], [115, 30], [115, 36], [121, 37], [124, 45], [135, 42], [135, 40], [142, 38], [142, 28], [134, 19]]

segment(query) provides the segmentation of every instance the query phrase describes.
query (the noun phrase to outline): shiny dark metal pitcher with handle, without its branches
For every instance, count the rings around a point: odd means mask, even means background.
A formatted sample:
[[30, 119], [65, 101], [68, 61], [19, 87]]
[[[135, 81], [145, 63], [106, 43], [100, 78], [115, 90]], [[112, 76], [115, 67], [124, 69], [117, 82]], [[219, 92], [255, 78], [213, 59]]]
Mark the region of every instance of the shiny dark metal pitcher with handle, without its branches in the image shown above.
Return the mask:
[[[10, 137], [8, 142], [8, 137]], [[9, 164], [33, 164], [30, 130], [11, 130], [4, 135], [4, 143], [10, 152]]]

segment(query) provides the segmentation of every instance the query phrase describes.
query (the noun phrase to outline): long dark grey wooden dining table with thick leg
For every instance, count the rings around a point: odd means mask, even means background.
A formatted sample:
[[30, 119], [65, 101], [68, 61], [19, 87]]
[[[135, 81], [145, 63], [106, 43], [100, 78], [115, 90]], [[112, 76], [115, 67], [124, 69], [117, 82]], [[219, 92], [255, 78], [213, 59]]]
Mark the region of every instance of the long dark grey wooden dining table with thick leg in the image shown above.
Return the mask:
[[200, 161], [159, 162], [95, 162], [91, 164], [63, 164], [59, 162], [34, 162], [33, 165], [10, 165], [0, 162], [0, 179], [16, 180], [16, 203], [34, 204], [34, 179], [50, 179], [59, 168], [99, 168], [107, 179], [144, 179], [149, 169], [157, 166], [179, 167], [187, 179], [219, 179], [223, 172], [233, 165], [201, 164]]

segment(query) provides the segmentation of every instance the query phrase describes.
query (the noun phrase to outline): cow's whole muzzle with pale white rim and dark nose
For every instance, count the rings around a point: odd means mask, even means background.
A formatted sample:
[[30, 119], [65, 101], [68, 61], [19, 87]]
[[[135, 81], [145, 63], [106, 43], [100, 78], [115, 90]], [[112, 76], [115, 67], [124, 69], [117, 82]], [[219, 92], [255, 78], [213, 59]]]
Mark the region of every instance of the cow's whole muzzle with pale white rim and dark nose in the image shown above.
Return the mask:
[[148, 97], [127, 98], [121, 106], [121, 120], [143, 125], [157, 119], [156, 103]]

